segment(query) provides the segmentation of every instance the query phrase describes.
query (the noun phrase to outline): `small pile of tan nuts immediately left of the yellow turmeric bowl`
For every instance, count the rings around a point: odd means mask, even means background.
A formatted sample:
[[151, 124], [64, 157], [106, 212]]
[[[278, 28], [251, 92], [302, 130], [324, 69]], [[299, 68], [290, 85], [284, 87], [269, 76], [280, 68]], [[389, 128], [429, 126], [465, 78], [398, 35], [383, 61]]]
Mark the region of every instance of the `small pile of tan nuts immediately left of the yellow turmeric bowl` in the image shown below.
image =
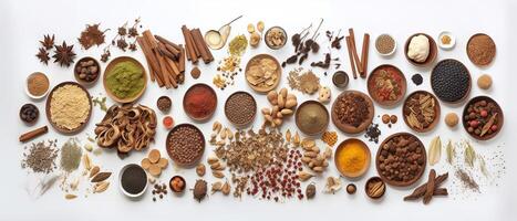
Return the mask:
[[329, 159], [332, 157], [332, 149], [327, 147], [324, 151], [316, 146], [313, 139], [306, 138], [301, 141], [303, 148], [303, 157], [301, 161], [306, 164], [312, 171], [321, 173], [329, 167]]

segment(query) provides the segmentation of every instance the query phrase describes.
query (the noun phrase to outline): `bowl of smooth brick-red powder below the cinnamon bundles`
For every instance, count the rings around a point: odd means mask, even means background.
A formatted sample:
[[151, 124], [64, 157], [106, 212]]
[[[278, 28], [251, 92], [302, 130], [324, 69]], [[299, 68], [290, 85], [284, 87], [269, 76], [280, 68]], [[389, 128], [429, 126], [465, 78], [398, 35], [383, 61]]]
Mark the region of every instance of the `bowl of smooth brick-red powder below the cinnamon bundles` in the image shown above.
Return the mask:
[[207, 84], [190, 86], [183, 97], [183, 109], [195, 120], [206, 120], [216, 112], [217, 95]]

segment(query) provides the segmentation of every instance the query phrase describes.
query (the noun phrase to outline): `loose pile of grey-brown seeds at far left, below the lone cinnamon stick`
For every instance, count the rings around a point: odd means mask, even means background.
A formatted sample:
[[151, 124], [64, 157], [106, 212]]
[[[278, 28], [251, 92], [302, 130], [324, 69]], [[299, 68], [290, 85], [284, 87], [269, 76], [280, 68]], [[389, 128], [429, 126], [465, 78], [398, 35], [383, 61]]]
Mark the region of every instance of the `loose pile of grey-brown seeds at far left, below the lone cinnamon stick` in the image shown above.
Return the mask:
[[[56, 169], [55, 158], [58, 157], [58, 140], [32, 143], [29, 152], [23, 152], [21, 168], [29, 168], [33, 172], [50, 173]], [[25, 150], [28, 147], [25, 147]]]

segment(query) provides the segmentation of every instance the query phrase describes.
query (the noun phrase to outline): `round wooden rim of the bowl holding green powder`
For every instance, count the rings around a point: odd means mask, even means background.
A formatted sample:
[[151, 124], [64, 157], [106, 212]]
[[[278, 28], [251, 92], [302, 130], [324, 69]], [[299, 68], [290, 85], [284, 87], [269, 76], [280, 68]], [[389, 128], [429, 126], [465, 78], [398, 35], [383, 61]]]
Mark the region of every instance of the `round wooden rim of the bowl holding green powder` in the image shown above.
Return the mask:
[[[118, 98], [117, 96], [115, 96], [106, 86], [106, 77], [107, 77], [107, 74], [110, 74], [110, 72], [113, 70], [113, 67], [121, 63], [121, 62], [133, 62], [134, 64], [136, 64], [139, 69], [142, 69], [142, 72], [143, 72], [143, 77], [144, 77], [144, 87], [142, 88], [142, 91], [135, 95], [134, 97], [126, 97], [126, 98]], [[139, 63], [137, 60], [131, 57], [131, 56], [118, 56], [116, 59], [114, 59], [113, 61], [110, 62], [110, 64], [107, 64], [106, 69], [104, 70], [104, 74], [103, 74], [103, 85], [104, 85], [104, 90], [106, 91], [106, 94], [107, 96], [110, 96], [113, 101], [115, 102], [118, 102], [118, 103], [122, 103], [122, 104], [125, 104], [125, 103], [133, 103], [134, 101], [138, 99], [145, 92], [145, 90], [147, 88], [147, 73], [145, 72], [145, 69], [144, 66], [142, 65], [142, 63]]]

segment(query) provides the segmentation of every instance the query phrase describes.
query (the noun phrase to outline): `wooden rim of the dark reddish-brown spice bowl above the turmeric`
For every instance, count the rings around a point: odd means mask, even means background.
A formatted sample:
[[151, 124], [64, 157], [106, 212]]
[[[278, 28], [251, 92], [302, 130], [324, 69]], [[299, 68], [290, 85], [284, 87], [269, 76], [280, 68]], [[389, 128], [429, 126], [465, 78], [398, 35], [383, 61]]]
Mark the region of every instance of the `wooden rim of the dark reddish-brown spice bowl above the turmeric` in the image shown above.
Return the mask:
[[[358, 96], [362, 96], [364, 97], [364, 99], [368, 103], [368, 110], [369, 110], [369, 115], [368, 115], [368, 119], [364, 120], [361, 125], [359, 125], [358, 127], [354, 127], [352, 125], [348, 125], [348, 124], [343, 124], [339, 120], [338, 118], [338, 114], [337, 114], [337, 108], [338, 108], [338, 101], [341, 99], [342, 96], [347, 95], [347, 94], [355, 94]], [[335, 127], [338, 127], [341, 131], [344, 131], [347, 134], [359, 134], [361, 131], [363, 131], [364, 129], [366, 129], [368, 126], [370, 126], [372, 124], [372, 120], [373, 120], [373, 115], [375, 114], [374, 113], [375, 109], [373, 107], [373, 102], [372, 99], [364, 93], [362, 92], [359, 92], [359, 91], [344, 91], [342, 92], [335, 99], [334, 99], [334, 103], [332, 104], [332, 113], [331, 113], [331, 116], [332, 116], [332, 123], [335, 125]]]

